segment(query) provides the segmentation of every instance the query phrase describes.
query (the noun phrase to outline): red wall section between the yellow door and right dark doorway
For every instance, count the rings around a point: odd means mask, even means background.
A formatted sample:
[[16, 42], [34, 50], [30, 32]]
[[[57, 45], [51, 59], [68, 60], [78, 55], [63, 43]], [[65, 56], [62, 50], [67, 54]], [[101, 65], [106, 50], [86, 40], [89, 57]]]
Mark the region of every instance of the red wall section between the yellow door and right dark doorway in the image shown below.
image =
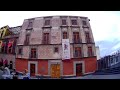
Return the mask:
[[63, 75], [73, 74], [73, 60], [63, 60]]

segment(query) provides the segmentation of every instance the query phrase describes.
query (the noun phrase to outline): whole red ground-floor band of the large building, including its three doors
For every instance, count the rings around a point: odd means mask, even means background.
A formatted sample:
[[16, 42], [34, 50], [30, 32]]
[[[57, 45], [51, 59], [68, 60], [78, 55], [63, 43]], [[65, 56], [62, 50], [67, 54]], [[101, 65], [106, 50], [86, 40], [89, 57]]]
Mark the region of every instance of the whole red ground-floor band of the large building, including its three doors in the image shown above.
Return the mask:
[[31, 76], [43, 75], [52, 78], [82, 76], [97, 69], [96, 57], [72, 58], [70, 60], [16, 59], [16, 70], [28, 69]]

